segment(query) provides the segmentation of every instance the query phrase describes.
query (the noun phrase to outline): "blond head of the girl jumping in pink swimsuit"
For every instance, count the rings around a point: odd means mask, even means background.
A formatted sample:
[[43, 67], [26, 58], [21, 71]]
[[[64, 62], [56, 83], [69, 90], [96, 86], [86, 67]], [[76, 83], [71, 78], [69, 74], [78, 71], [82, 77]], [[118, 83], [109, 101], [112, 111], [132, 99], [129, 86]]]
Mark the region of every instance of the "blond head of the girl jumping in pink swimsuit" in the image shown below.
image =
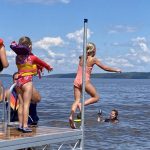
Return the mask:
[[92, 42], [88, 42], [86, 46], [86, 52], [88, 56], [95, 56], [96, 53], [96, 45]]

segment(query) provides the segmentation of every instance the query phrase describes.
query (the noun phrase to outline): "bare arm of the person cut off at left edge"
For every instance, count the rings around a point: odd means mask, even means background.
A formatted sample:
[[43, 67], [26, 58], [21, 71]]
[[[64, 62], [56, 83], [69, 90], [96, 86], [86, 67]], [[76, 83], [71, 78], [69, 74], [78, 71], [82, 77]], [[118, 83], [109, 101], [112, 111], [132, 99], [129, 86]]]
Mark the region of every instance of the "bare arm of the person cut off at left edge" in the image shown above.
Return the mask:
[[8, 60], [6, 57], [6, 50], [5, 50], [4, 46], [2, 46], [0, 48], [0, 60], [1, 60], [4, 68], [7, 68], [9, 66], [9, 63], [8, 63]]

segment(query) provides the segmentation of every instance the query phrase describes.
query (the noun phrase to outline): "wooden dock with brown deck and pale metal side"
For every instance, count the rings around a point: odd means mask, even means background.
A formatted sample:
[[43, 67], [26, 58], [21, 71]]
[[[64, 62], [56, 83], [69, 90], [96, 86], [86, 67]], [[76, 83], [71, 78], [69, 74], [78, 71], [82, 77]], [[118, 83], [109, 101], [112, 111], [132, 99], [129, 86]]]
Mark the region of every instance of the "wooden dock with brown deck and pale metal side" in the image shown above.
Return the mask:
[[79, 129], [39, 126], [32, 130], [31, 133], [22, 133], [16, 127], [5, 127], [0, 131], [0, 150], [16, 150], [73, 140], [77, 142], [82, 139]]

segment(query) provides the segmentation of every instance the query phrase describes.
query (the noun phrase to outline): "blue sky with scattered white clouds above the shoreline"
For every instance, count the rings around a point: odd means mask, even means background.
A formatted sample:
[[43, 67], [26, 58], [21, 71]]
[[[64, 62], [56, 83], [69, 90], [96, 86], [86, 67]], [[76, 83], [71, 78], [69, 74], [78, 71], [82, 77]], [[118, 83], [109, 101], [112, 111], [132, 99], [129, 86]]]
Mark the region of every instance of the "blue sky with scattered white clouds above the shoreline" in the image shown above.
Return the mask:
[[[10, 63], [2, 73], [16, 71], [9, 45], [21, 36], [32, 39], [33, 53], [54, 67], [53, 74], [76, 72], [84, 18], [102, 63], [123, 72], [149, 72], [149, 6], [148, 0], [1, 0], [0, 37]], [[94, 67], [93, 72], [103, 71]]]

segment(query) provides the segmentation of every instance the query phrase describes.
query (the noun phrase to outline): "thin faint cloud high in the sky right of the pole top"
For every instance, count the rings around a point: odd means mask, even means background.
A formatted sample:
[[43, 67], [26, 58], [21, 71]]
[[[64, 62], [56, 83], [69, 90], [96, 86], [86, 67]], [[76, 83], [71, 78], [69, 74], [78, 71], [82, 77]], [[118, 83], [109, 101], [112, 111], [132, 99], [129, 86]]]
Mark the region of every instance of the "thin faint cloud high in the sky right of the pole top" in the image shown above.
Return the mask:
[[112, 26], [108, 33], [109, 34], [115, 34], [115, 33], [131, 33], [131, 32], [135, 32], [136, 31], [136, 27], [132, 27], [132, 26], [126, 26], [126, 25], [116, 25], [116, 26]]

